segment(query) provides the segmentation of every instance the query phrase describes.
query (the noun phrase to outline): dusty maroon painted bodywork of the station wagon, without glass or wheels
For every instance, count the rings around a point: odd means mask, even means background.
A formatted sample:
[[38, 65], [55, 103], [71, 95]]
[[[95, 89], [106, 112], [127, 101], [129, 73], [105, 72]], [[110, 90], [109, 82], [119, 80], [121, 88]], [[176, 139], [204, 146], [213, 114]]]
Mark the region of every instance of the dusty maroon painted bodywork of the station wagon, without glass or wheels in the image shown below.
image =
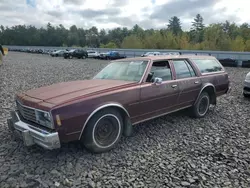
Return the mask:
[[[213, 59], [211, 56], [191, 57]], [[172, 59], [187, 59], [196, 77], [176, 80]], [[137, 124], [192, 106], [206, 86], [213, 88], [217, 96], [225, 94], [229, 87], [224, 68], [217, 73], [202, 75], [190, 56], [152, 56], [126, 60], [149, 61], [140, 82], [98, 79], [64, 82], [18, 94], [17, 100], [26, 106], [49, 111], [60, 141], [69, 142], [81, 138], [87, 120], [96, 109], [113, 106], [125, 113], [132, 124]], [[158, 60], [169, 61], [173, 80], [163, 81], [160, 85], [145, 82], [152, 63]], [[60, 126], [57, 126], [56, 115], [60, 115]]]

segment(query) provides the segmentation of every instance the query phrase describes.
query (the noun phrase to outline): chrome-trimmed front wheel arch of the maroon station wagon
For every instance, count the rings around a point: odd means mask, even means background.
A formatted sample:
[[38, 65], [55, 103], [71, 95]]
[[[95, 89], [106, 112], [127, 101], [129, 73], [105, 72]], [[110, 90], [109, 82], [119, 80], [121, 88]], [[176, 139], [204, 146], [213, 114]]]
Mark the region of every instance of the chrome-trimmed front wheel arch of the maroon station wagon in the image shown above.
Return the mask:
[[82, 137], [82, 134], [84, 132], [84, 129], [86, 128], [88, 122], [90, 121], [90, 119], [96, 114], [98, 113], [99, 111], [103, 110], [103, 109], [106, 109], [106, 108], [115, 108], [117, 109], [122, 117], [123, 117], [123, 121], [125, 121], [126, 118], [130, 118], [130, 114], [129, 112], [126, 110], [126, 108], [119, 104], [119, 103], [115, 103], [115, 102], [112, 102], [112, 103], [107, 103], [107, 104], [104, 104], [104, 105], [101, 105], [99, 106], [98, 108], [96, 108], [94, 111], [91, 112], [91, 114], [88, 116], [88, 118], [86, 119], [86, 121], [84, 122], [84, 125], [82, 127], [82, 130], [81, 130], [81, 133], [80, 133], [80, 136], [79, 136], [79, 140], [81, 139]]

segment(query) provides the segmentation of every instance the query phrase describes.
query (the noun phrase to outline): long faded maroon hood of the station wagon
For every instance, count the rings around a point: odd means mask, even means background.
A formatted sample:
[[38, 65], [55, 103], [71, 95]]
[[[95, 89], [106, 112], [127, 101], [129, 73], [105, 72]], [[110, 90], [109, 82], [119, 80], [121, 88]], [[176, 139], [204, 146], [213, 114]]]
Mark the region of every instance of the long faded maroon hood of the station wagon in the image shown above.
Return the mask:
[[134, 85], [134, 82], [120, 80], [80, 80], [70, 81], [31, 89], [17, 95], [20, 102], [34, 108], [46, 104], [48, 108], [60, 105], [77, 98], [93, 96]]

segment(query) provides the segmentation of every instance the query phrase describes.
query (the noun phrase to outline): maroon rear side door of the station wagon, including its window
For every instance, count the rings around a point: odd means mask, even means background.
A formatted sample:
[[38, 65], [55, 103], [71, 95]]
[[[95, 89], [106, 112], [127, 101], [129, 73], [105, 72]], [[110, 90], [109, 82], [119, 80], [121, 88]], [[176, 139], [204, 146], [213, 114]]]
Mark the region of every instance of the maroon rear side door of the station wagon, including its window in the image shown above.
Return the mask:
[[175, 80], [180, 91], [177, 99], [178, 107], [190, 106], [195, 102], [201, 90], [200, 77], [187, 59], [173, 59], [171, 63], [174, 67]]

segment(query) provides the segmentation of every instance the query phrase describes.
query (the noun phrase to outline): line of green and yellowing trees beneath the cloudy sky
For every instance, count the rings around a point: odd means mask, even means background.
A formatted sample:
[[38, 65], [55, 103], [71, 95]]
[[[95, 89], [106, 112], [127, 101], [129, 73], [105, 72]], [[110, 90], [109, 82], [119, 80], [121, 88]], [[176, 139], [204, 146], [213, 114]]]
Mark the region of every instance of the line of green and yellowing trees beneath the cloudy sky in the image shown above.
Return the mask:
[[135, 25], [109, 31], [77, 28], [66, 29], [63, 25], [46, 28], [31, 25], [0, 26], [0, 43], [23, 46], [81, 46], [94, 48], [144, 48], [144, 49], [190, 49], [250, 51], [250, 25], [240, 26], [226, 21], [205, 27], [203, 18], [197, 14], [189, 31], [182, 30], [178, 17], [169, 20], [166, 28], [142, 29]]

